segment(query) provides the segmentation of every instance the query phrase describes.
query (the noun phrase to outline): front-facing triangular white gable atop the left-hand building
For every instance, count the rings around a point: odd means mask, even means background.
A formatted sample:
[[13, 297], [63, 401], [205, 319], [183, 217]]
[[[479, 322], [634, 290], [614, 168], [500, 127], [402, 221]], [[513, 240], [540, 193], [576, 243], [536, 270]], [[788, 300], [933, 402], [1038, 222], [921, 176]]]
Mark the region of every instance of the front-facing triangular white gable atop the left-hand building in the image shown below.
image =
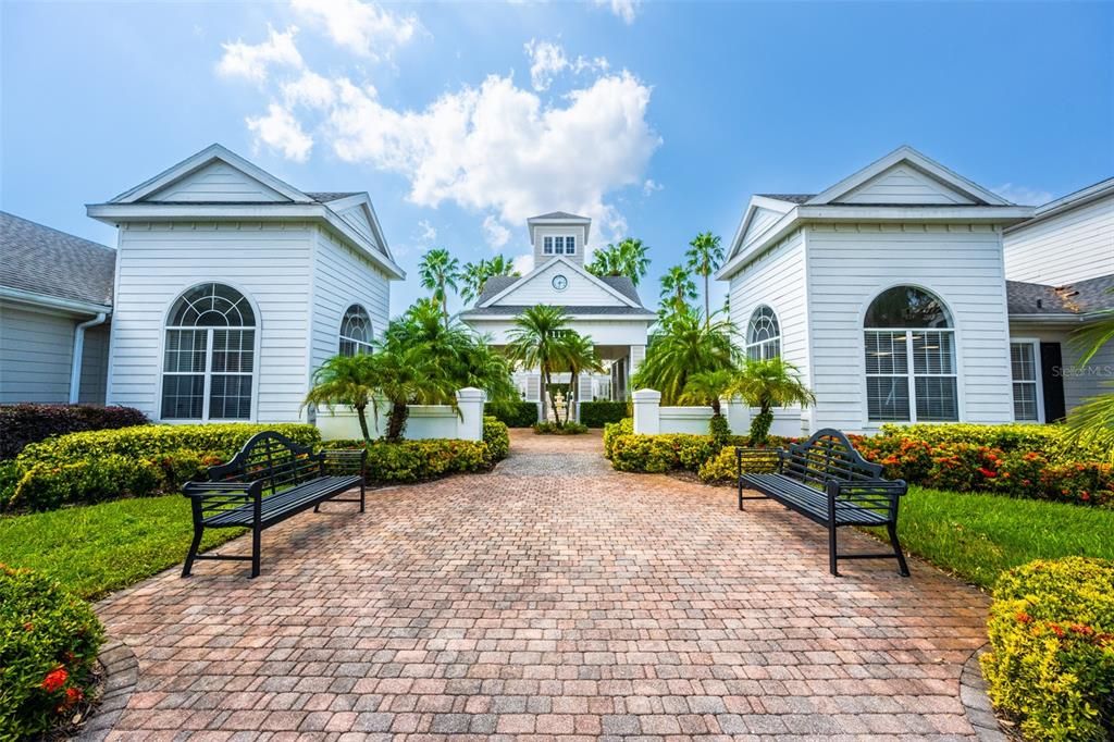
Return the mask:
[[240, 155], [211, 145], [113, 198], [136, 203], [313, 203], [313, 198]]

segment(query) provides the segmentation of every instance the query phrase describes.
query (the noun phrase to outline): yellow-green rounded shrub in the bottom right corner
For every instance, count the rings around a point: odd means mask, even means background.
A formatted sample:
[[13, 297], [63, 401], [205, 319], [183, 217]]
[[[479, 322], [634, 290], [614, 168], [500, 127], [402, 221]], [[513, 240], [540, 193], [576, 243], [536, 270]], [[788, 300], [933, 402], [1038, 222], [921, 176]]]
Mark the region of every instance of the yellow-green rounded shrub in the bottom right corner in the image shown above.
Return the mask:
[[1026, 740], [1114, 739], [1114, 562], [1068, 557], [1004, 573], [987, 629], [990, 700]]

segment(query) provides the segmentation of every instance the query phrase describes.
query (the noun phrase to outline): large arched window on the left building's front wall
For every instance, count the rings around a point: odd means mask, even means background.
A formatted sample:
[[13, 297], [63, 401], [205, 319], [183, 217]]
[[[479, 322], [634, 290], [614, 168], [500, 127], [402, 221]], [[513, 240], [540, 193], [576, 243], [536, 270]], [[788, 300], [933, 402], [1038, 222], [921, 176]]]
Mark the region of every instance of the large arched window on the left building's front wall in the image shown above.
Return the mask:
[[250, 420], [255, 380], [255, 313], [219, 283], [194, 286], [166, 320], [164, 420]]

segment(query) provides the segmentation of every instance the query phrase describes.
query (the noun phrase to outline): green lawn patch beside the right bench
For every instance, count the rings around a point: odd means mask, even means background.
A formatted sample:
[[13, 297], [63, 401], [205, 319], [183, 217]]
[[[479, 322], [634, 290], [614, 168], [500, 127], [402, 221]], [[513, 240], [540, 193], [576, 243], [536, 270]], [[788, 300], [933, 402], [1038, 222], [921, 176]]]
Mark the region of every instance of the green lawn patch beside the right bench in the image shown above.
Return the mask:
[[901, 545], [981, 587], [1032, 559], [1114, 559], [1114, 510], [996, 495], [910, 487], [901, 500]]

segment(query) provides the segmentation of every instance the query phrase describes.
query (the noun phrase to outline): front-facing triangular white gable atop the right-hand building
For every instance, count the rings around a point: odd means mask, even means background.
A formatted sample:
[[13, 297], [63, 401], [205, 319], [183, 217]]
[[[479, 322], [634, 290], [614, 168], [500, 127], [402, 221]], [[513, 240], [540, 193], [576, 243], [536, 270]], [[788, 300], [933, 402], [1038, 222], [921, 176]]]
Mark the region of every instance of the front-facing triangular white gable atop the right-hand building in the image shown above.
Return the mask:
[[1009, 202], [912, 147], [903, 146], [805, 204], [1008, 206]]

